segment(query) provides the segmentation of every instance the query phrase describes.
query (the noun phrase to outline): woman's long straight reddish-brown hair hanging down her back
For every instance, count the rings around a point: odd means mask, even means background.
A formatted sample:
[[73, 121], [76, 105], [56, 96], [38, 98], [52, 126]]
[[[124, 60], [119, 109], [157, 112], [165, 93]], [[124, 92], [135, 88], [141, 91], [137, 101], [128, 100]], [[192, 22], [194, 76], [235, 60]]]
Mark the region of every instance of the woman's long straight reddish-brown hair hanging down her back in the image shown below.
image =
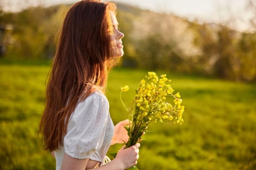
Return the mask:
[[64, 18], [39, 125], [46, 150], [63, 146], [63, 136], [77, 103], [106, 87], [111, 58], [110, 11], [116, 12], [114, 3], [81, 0]]

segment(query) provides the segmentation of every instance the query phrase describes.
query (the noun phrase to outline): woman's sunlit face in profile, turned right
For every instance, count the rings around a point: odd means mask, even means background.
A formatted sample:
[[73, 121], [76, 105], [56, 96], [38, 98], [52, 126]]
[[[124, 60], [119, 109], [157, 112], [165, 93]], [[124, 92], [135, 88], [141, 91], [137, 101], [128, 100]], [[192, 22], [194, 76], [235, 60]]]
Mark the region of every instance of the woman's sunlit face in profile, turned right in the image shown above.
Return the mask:
[[110, 12], [111, 22], [113, 28], [113, 34], [111, 34], [111, 57], [117, 58], [123, 56], [123, 45], [122, 45], [122, 38], [124, 34], [118, 30], [118, 20], [115, 16], [114, 12]]

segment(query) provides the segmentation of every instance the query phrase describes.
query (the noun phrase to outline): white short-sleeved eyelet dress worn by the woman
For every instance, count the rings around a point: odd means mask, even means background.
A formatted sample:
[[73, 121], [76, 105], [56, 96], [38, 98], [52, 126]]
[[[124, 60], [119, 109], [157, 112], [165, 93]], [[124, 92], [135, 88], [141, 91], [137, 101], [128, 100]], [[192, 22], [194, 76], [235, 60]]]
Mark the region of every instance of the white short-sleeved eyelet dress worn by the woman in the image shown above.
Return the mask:
[[79, 102], [67, 126], [63, 146], [55, 151], [56, 170], [60, 170], [64, 153], [77, 159], [104, 162], [114, 134], [109, 102], [97, 91]]

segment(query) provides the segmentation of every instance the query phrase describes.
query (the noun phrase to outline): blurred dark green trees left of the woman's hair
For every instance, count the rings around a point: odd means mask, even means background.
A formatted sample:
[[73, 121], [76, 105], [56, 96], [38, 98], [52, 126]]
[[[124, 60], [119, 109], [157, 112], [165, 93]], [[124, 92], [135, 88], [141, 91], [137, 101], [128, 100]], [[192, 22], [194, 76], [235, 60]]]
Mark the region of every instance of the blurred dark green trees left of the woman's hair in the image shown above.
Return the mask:
[[12, 39], [6, 57], [51, 58], [55, 35], [67, 11], [64, 5], [49, 8], [31, 7], [18, 13], [1, 16], [2, 23], [13, 25]]

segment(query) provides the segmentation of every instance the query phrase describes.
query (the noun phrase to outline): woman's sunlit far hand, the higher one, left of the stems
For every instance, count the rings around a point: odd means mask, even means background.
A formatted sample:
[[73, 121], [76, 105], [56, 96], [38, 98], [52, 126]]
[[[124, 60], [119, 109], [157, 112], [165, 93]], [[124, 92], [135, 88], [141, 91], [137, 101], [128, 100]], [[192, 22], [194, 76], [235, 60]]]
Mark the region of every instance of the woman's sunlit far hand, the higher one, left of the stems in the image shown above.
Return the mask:
[[114, 129], [114, 136], [111, 141], [111, 145], [114, 145], [116, 143], [124, 143], [127, 142], [129, 139], [129, 136], [127, 134], [127, 130], [124, 128], [124, 126], [129, 125], [130, 121], [128, 119], [125, 119], [123, 121], [120, 121]]

